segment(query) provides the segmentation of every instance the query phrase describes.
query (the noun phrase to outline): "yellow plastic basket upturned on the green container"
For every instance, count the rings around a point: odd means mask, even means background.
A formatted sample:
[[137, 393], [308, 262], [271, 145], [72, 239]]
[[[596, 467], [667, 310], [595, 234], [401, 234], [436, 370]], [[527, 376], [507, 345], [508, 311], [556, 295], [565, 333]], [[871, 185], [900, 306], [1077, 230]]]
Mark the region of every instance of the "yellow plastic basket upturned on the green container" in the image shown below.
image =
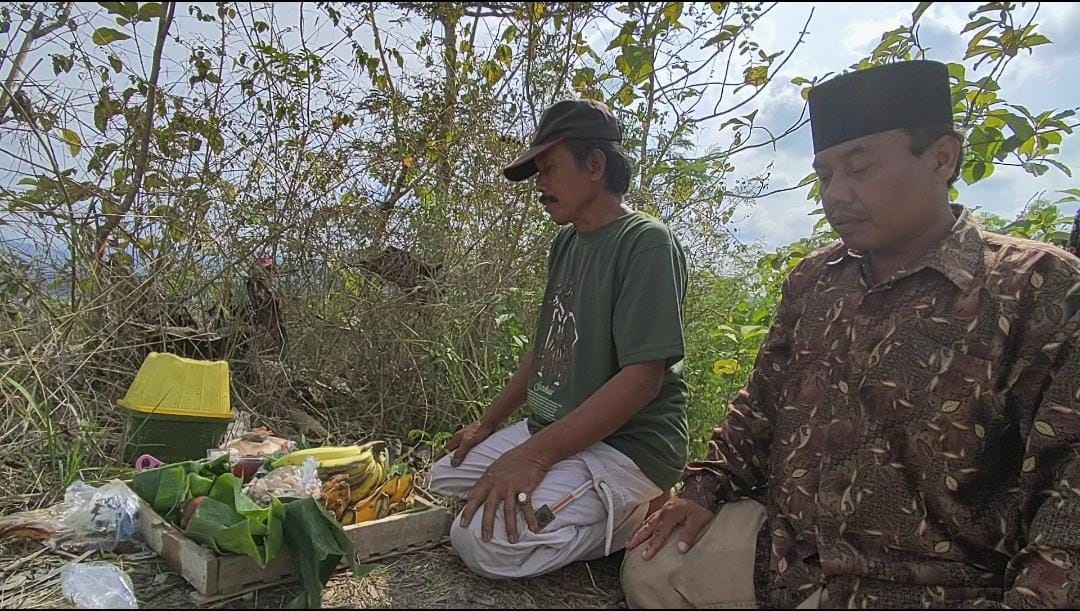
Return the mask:
[[154, 416], [232, 420], [229, 364], [151, 352], [117, 403]]

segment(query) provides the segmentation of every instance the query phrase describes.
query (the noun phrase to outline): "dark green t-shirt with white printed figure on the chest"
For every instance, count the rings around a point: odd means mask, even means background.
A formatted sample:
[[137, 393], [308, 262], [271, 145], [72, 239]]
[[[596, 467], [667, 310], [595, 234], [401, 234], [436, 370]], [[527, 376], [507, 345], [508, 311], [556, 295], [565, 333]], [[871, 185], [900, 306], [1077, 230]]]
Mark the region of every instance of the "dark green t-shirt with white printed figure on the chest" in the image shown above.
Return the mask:
[[529, 429], [577, 409], [620, 369], [664, 361], [660, 393], [604, 442], [662, 489], [687, 458], [683, 381], [686, 256], [659, 220], [633, 213], [552, 244], [529, 376]]

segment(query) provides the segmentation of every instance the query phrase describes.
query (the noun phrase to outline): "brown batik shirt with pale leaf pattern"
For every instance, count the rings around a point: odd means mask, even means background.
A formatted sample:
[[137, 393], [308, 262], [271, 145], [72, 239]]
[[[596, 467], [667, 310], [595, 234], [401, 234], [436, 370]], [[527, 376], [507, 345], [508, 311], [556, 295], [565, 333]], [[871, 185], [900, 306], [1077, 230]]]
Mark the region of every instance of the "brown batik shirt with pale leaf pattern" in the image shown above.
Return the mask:
[[886, 280], [837, 244], [785, 283], [681, 495], [768, 507], [771, 607], [1080, 607], [1080, 259], [982, 232]]

